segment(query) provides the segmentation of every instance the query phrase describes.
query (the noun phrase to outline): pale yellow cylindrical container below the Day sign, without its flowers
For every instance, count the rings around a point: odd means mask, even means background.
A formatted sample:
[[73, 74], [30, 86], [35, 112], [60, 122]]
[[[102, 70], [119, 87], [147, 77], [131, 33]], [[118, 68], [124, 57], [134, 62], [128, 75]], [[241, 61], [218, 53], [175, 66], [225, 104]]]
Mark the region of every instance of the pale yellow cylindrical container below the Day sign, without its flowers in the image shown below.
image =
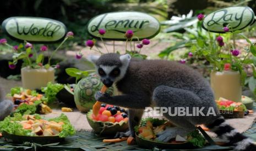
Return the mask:
[[239, 72], [211, 71], [211, 88], [214, 91], [215, 100], [223, 97], [227, 100], [241, 102], [242, 85]]

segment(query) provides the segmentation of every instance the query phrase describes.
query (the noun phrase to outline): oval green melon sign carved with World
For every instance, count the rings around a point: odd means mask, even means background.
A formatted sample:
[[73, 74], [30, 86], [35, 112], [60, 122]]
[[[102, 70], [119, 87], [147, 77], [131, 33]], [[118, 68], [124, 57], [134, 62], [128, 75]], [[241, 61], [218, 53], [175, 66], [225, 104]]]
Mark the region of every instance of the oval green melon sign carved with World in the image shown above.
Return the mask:
[[53, 43], [66, 36], [66, 26], [57, 20], [33, 17], [12, 17], [3, 21], [3, 31], [16, 40]]

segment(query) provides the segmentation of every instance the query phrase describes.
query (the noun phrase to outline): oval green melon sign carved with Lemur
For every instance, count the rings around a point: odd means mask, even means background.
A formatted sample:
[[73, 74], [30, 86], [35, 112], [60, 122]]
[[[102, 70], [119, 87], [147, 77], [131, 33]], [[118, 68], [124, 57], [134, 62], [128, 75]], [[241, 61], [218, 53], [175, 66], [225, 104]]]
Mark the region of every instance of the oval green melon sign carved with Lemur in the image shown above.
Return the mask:
[[[101, 28], [106, 30], [104, 36], [99, 34]], [[105, 40], [126, 40], [124, 34], [127, 30], [133, 30], [134, 37], [139, 39], [150, 39], [159, 33], [160, 23], [145, 13], [122, 11], [95, 16], [88, 24], [88, 32], [92, 37]]]

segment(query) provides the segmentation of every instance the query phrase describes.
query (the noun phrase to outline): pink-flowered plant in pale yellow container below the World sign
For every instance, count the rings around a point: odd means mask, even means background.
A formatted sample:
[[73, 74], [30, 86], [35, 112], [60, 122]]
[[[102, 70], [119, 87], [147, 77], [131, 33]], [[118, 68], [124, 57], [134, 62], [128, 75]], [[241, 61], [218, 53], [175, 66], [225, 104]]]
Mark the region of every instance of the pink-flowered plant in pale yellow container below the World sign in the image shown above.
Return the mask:
[[13, 61], [9, 62], [9, 68], [14, 69], [18, 60], [23, 60], [23, 67], [21, 68], [21, 81], [23, 88], [26, 89], [41, 89], [46, 86], [48, 82], [55, 82], [55, 68], [59, 65], [51, 65], [52, 56], [62, 46], [67, 39], [73, 38], [73, 32], [68, 32], [62, 43], [48, 55], [48, 62], [44, 62], [47, 45], [41, 45], [40, 49], [36, 45], [32, 45], [24, 41], [24, 44], [9, 45], [6, 39], [0, 39], [0, 43], [7, 45], [13, 50]]

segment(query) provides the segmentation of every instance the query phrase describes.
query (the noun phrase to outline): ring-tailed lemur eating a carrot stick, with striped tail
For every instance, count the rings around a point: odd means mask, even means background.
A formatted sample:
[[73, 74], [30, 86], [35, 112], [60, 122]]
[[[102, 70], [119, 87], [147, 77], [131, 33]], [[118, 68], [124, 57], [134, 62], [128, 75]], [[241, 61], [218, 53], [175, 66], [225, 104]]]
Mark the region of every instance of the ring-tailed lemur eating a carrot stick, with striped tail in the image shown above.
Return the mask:
[[[138, 125], [145, 107], [192, 107], [213, 108], [216, 115], [203, 116], [164, 116], [177, 127], [166, 129], [157, 137], [160, 141], [169, 141], [177, 133], [185, 135], [195, 130], [195, 125], [204, 124], [217, 136], [225, 138], [236, 150], [256, 150], [249, 138], [237, 132], [225, 122], [218, 113], [213, 91], [201, 75], [181, 63], [164, 60], [133, 61], [130, 55], [105, 54], [89, 56], [95, 63], [101, 81], [110, 87], [116, 84], [123, 95], [110, 96], [96, 92], [98, 101], [128, 108], [129, 132], [117, 133], [118, 137], [132, 135], [134, 126]], [[173, 111], [173, 110], [172, 110]], [[191, 113], [191, 111], [189, 112]]]

